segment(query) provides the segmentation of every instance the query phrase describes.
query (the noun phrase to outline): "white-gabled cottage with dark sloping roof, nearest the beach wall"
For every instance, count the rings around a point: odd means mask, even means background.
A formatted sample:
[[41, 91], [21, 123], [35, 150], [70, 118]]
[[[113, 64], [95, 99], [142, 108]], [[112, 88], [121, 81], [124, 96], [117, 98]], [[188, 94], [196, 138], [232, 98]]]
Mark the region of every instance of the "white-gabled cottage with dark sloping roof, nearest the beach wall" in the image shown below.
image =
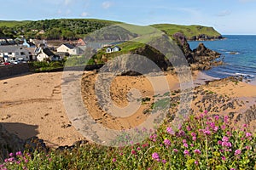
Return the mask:
[[[36, 50], [38, 52], [38, 49]], [[40, 52], [37, 54], [38, 61], [50, 60], [57, 61], [61, 60], [59, 55], [55, 55], [49, 48], [40, 48]]]

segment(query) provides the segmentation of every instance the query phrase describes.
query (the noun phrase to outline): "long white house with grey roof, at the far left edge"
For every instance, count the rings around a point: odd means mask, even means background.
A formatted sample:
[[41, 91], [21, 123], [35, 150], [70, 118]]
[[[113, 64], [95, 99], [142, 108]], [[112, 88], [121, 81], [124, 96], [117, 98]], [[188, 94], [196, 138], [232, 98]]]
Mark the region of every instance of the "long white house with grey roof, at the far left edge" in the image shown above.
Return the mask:
[[29, 51], [20, 46], [5, 45], [0, 46], [0, 57], [5, 60], [30, 60]]

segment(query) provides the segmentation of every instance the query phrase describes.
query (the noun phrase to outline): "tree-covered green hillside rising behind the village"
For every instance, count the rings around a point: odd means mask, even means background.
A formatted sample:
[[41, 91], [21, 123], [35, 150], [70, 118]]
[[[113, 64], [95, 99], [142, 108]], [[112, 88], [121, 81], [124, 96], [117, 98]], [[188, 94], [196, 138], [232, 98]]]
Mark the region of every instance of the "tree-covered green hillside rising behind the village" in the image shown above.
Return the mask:
[[[4, 37], [73, 40], [119, 22], [95, 19], [60, 19], [38, 21], [0, 21], [0, 35]], [[39, 33], [44, 30], [45, 33]]]

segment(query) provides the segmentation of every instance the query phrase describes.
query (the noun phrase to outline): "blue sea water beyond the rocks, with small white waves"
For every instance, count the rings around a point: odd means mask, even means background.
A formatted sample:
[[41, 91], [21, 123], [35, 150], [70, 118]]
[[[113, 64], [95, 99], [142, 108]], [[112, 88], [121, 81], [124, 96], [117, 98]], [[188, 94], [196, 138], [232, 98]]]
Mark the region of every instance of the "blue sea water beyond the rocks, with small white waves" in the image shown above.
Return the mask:
[[[226, 39], [219, 41], [202, 41], [207, 48], [222, 54], [220, 59], [225, 63], [203, 72], [218, 78], [242, 75], [248, 79], [254, 79], [256, 77], [256, 36], [224, 35], [224, 37]], [[199, 43], [189, 42], [190, 48], [196, 48]]]

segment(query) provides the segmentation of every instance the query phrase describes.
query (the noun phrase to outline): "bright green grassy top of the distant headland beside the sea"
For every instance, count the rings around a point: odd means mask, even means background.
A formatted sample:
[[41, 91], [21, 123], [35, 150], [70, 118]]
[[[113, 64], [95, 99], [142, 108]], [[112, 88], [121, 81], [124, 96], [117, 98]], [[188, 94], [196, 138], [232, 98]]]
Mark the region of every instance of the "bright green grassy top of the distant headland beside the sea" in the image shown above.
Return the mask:
[[185, 37], [198, 36], [200, 34], [206, 34], [209, 37], [218, 37], [221, 34], [215, 31], [212, 27], [207, 26], [179, 26], [173, 24], [156, 24], [153, 27], [165, 31], [168, 36], [172, 36], [176, 32], [182, 32]]

